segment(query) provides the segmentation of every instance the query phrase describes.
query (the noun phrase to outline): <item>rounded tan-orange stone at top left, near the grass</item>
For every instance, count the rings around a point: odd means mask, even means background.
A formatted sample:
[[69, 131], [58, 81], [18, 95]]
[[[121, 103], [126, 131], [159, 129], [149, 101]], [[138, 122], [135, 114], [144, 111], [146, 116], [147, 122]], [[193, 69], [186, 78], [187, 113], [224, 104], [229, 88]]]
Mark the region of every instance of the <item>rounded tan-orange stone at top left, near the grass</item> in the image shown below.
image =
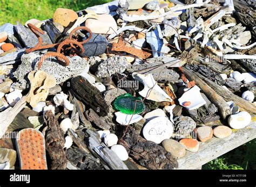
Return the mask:
[[78, 15], [75, 11], [63, 8], [56, 9], [52, 16], [53, 22], [59, 23], [64, 27], [69, 26], [69, 24], [76, 21], [77, 18]]

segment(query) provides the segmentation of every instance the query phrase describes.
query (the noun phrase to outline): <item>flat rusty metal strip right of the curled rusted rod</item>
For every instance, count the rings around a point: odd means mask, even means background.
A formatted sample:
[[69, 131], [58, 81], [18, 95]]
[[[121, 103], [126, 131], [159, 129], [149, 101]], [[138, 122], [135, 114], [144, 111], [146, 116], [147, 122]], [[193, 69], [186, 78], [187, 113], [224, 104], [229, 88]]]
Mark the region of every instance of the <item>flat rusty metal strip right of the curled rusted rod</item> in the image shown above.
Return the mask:
[[123, 40], [118, 40], [117, 43], [113, 43], [112, 51], [130, 53], [130, 54], [132, 54], [134, 56], [138, 56], [141, 59], [147, 59], [148, 57], [151, 56], [151, 53], [142, 51], [140, 49], [136, 49], [134, 47], [127, 47], [127, 46], [125, 46]]

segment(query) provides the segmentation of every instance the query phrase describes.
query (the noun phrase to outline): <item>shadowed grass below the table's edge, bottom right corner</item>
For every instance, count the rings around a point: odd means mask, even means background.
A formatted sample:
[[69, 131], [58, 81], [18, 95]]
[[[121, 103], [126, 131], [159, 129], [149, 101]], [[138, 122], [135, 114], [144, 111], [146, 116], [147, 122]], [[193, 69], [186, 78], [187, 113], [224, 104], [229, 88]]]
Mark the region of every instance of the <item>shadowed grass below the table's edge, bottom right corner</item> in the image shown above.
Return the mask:
[[256, 140], [208, 162], [202, 169], [256, 169]]

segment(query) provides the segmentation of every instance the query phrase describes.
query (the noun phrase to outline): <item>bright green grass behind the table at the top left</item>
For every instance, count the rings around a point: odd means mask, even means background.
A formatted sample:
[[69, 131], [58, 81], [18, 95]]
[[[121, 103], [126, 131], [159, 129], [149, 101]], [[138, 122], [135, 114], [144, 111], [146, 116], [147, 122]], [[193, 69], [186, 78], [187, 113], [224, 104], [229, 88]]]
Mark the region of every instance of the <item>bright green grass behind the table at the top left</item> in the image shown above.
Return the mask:
[[74, 11], [86, 9], [89, 6], [111, 2], [111, 0], [0, 0], [0, 25], [5, 23], [21, 24], [35, 18], [45, 20], [52, 18], [57, 8]]

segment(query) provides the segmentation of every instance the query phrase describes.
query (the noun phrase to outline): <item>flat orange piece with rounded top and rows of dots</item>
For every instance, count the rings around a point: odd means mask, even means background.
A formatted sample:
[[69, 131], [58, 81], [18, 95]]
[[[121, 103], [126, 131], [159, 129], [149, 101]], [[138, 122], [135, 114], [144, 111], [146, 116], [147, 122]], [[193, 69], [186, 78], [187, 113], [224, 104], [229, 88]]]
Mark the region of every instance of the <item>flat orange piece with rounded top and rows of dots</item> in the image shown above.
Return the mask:
[[47, 169], [44, 135], [34, 128], [25, 128], [16, 138], [21, 169]]

